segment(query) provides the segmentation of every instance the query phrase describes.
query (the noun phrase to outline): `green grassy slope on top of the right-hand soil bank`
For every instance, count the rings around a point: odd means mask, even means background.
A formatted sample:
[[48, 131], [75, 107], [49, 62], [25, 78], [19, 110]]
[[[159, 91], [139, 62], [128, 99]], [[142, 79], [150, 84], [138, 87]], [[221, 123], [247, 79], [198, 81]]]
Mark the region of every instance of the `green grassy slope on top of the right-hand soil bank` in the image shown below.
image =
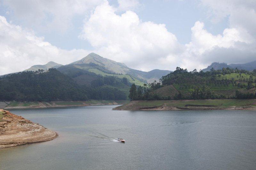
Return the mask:
[[136, 109], [141, 107], [160, 107], [166, 104], [169, 107], [186, 107], [186, 105], [211, 105], [215, 107], [246, 107], [256, 106], [256, 99], [238, 100], [238, 99], [224, 99], [224, 100], [151, 100], [151, 101], [133, 101], [120, 108]]

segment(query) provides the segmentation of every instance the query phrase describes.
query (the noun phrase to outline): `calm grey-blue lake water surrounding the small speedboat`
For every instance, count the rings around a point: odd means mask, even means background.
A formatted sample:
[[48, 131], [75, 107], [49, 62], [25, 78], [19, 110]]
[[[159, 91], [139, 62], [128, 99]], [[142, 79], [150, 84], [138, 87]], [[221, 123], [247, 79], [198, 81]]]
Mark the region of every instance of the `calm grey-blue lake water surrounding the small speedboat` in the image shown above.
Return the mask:
[[[12, 110], [59, 133], [0, 150], [0, 169], [255, 169], [255, 111]], [[115, 138], [122, 137], [125, 143]]]

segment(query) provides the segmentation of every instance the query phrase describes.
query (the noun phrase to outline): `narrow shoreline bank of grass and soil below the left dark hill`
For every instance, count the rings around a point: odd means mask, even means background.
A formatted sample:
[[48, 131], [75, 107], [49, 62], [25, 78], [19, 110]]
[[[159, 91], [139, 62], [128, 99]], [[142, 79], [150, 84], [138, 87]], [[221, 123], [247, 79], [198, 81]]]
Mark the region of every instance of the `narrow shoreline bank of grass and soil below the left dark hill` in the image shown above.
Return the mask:
[[[48, 108], [48, 107], [71, 107], [92, 105], [118, 105], [125, 104], [128, 100], [87, 100], [87, 101], [51, 101], [51, 102], [0, 102], [3, 109], [26, 109], [26, 108]], [[2, 107], [1, 107], [2, 106]]]

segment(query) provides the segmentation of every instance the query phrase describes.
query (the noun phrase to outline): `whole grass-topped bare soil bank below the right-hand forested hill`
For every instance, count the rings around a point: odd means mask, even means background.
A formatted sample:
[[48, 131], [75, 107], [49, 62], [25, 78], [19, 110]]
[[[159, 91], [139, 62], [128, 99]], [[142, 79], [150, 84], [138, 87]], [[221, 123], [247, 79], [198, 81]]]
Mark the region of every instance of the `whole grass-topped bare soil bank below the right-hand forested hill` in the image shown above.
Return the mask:
[[137, 100], [113, 110], [256, 110], [256, 100]]

